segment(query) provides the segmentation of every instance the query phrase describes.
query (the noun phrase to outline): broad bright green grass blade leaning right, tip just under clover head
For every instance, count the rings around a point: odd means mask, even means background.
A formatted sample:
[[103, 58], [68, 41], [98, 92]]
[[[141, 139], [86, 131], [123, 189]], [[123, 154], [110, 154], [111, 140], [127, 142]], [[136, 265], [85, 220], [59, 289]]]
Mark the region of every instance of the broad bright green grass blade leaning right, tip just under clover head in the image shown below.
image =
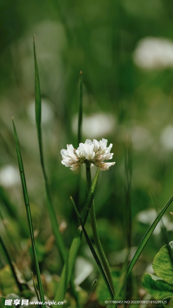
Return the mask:
[[[86, 199], [86, 203], [83, 209], [83, 213], [82, 213], [82, 223], [83, 225], [85, 225], [86, 223], [86, 219], [88, 217], [89, 211], [91, 209], [91, 204], [95, 195], [95, 190], [97, 187], [97, 183], [98, 183], [98, 179], [99, 179], [99, 172], [100, 172], [100, 168], [98, 168], [96, 174], [95, 174], [95, 178], [93, 180], [93, 183], [91, 185], [90, 188], [90, 192], [88, 194], [88, 197]], [[74, 236], [74, 239], [71, 243], [70, 246], [70, 250], [69, 250], [69, 254], [68, 254], [68, 258], [63, 266], [62, 269], [62, 273], [61, 273], [61, 278], [60, 278], [60, 282], [59, 282], [59, 286], [57, 289], [57, 292], [55, 293], [55, 301], [63, 301], [64, 297], [65, 297], [65, 293], [67, 290], [67, 286], [70, 282], [70, 278], [72, 275], [72, 271], [74, 268], [74, 263], [75, 263], [75, 259], [78, 253], [78, 249], [80, 247], [80, 243], [81, 243], [81, 239], [82, 239], [82, 228], [81, 226], [78, 227], [78, 230]]]

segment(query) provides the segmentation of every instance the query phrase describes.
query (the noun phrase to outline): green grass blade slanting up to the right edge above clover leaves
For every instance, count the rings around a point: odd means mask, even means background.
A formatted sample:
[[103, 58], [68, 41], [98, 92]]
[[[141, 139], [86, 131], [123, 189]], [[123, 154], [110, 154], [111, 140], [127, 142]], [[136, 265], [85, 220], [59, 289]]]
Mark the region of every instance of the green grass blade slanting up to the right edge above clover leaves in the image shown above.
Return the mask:
[[115, 290], [115, 296], [114, 298], [117, 299], [119, 296], [119, 293], [123, 287], [123, 284], [126, 280], [126, 278], [128, 277], [128, 275], [130, 274], [131, 270], [133, 269], [136, 261], [138, 260], [140, 254], [142, 253], [145, 245], [147, 244], [147, 241], [149, 240], [149, 238], [151, 237], [151, 234], [153, 233], [156, 225], [158, 224], [158, 222], [160, 221], [160, 219], [162, 218], [163, 214], [166, 212], [167, 208], [169, 207], [169, 205], [172, 203], [173, 201], [173, 196], [168, 200], [168, 202], [166, 203], [166, 205], [163, 207], [163, 209], [161, 210], [161, 212], [159, 213], [159, 215], [156, 217], [155, 221], [152, 223], [152, 225], [150, 226], [150, 228], [148, 229], [148, 231], [145, 233], [142, 241], [140, 242], [138, 249], [135, 252], [135, 255], [133, 256], [127, 270], [123, 271], [120, 280], [119, 280], [119, 284]]

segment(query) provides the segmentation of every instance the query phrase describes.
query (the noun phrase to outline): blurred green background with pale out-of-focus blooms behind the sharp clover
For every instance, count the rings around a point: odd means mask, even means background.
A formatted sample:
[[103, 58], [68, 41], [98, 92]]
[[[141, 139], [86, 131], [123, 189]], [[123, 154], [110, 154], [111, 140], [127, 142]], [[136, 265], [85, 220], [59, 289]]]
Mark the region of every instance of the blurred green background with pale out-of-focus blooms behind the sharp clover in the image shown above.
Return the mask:
[[[173, 193], [172, 29], [171, 0], [2, 0], [0, 3], [0, 232], [23, 278], [30, 281], [30, 266], [34, 268], [14, 146], [11, 123], [14, 115], [38, 260], [46, 290], [50, 288], [49, 298], [53, 296], [50, 283], [53, 280], [58, 283], [62, 264], [52, 237], [39, 161], [34, 118], [33, 34], [42, 92], [46, 170], [64, 241], [69, 248], [78, 226], [69, 197], [74, 197], [81, 211], [86, 199], [85, 167], [81, 168], [78, 197], [78, 171], [63, 166], [60, 155], [66, 144], [78, 146], [78, 83], [82, 70], [83, 142], [86, 138], [106, 138], [108, 145], [113, 143], [116, 164], [100, 172], [95, 208], [108, 260], [111, 266], [121, 267], [125, 134], [131, 134], [133, 146], [132, 252], [156, 217], [150, 190], [161, 208]], [[93, 175], [95, 171], [93, 167]], [[164, 217], [170, 241], [173, 240], [171, 210], [173, 205]], [[89, 221], [86, 229], [92, 239]], [[137, 281], [146, 269], [152, 272], [153, 257], [163, 245], [160, 231], [161, 225], [135, 266]], [[3, 256], [0, 263], [3, 270], [6, 264]], [[99, 271], [84, 238], [76, 277], [80, 266], [88, 266], [88, 275], [85, 279], [83, 274], [82, 284], [77, 284], [89, 290]], [[3, 287], [2, 292], [8, 293]]]

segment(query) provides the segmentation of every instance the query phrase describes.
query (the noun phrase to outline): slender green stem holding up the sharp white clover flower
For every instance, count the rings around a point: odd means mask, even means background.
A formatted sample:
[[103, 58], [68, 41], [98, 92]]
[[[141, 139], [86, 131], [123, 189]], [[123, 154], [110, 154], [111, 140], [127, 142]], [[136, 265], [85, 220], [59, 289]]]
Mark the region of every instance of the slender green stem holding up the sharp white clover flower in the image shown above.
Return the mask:
[[[90, 168], [91, 163], [87, 160], [85, 165], [86, 165], [87, 193], [89, 193], [90, 187], [91, 187], [91, 168]], [[104, 267], [104, 270], [107, 274], [107, 278], [109, 280], [111, 288], [112, 288], [112, 290], [114, 290], [114, 284], [113, 284], [112, 275], [111, 275], [111, 268], [110, 268], [109, 263], [107, 261], [107, 257], [105, 256], [105, 253], [103, 251], [103, 248], [102, 248], [102, 245], [101, 245], [101, 242], [100, 242], [100, 238], [99, 238], [99, 233], [98, 233], [98, 230], [97, 230], [94, 200], [92, 202], [91, 209], [90, 209], [90, 218], [91, 218], [91, 227], [92, 227], [92, 231], [93, 231], [93, 237], [94, 237], [95, 245], [97, 247], [100, 258], [102, 260], [103, 267]]]

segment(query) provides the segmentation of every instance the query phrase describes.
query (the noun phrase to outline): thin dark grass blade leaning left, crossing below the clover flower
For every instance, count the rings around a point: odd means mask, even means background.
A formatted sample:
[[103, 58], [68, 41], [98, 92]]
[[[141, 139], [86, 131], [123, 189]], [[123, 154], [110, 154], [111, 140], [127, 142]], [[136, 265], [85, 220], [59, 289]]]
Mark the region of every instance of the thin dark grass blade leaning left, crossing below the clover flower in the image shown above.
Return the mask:
[[84, 225], [82, 224], [81, 217], [80, 217], [80, 215], [79, 215], [79, 213], [78, 213], [78, 210], [77, 210], [76, 205], [75, 205], [75, 203], [74, 203], [74, 201], [73, 201], [73, 198], [70, 197], [70, 199], [71, 199], [71, 201], [72, 201], [72, 204], [73, 204], [75, 213], [76, 213], [76, 215], [77, 215], [77, 217], [78, 217], [78, 220], [80, 221], [80, 224], [81, 224], [81, 226], [82, 226], [82, 230], [83, 230], [83, 233], [84, 233], [84, 235], [85, 235], [85, 238], [86, 238], [86, 241], [87, 241], [87, 243], [88, 243], [88, 246], [90, 247], [91, 253], [92, 253], [93, 257], [95, 258], [95, 261], [96, 261], [96, 263], [97, 263], [97, 265], [98, 265], [98, 267], [99, 267], [99, 270], [100, 270], [100, 272], [101, 272], [101, 274], [102, 274], [102, 276], [103, 276], [103, 279], [104, 279], [104, 281], [105, 281], [105, 283], [106, 283], [106, 286], [107, 286], [107, 289], [108, 289], [108, 291], [109, 291], [109, 294], [110, 294], [111, 298], [113, 299], [113, 298], [114, 298], [114, 293], [113, 293], [113, 291], [112, 291], [112, 288], [111, 288], [111, 285], [110, 285], [110, 283], [109, 283], [109, 280], [107, 279], [107, 276], [106, 276], [106, 274], [105, 274], [105, 271], [104, 271], [104, 269], [103, 269], [103, 266], [102, 266], [102, 264], [101, 264], [101, 262], [100, 262], [100, 260], [99, 260], [99, 258], [98, 258], [98, 256], [97, 256], [97, 253], [95, 252], [95, 249], [94, 249], [94, 247], [93, 247], [93, 245], [92, 245], [92, 243], [91, 243], [91, 241], [90, 241], [90, 239], [89, 239], [89, 237], [88, 237], [88, 234], [86, 233], [85, 227], [84, 227]]

